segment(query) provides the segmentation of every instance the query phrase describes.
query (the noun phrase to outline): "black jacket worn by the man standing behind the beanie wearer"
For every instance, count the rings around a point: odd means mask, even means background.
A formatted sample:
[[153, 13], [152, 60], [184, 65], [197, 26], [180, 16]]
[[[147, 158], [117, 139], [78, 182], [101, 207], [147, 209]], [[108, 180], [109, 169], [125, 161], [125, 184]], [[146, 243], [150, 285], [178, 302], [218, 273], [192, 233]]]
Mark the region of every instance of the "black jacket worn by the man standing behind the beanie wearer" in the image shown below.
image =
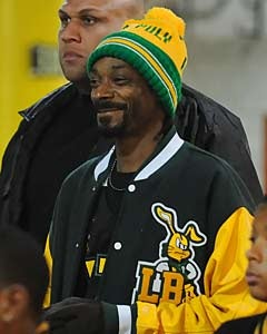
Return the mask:
[[[258, 203], [263, 194], [239, 118], [192, 88], [184, 86], [182, 94], [176, 119], [180, 136], [225, 158]], [[62, 180], [109, 144], [99, 140], [90, 99], [72, 84], [20, 114], [0, 174], [0, 225], [19, 225], [43, 245]]]

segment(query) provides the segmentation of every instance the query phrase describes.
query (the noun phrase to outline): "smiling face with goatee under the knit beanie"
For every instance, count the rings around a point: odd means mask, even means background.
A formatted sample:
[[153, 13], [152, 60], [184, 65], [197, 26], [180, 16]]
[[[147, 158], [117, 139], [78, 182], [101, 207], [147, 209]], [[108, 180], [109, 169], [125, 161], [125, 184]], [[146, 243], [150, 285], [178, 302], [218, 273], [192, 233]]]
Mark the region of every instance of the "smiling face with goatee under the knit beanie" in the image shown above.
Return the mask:
[[141, 137], [161, 126], [164, 112], [156, 94], [131, 66], [106, 57], [89, 75], [91, 99], [100, 130], [116, 138]]

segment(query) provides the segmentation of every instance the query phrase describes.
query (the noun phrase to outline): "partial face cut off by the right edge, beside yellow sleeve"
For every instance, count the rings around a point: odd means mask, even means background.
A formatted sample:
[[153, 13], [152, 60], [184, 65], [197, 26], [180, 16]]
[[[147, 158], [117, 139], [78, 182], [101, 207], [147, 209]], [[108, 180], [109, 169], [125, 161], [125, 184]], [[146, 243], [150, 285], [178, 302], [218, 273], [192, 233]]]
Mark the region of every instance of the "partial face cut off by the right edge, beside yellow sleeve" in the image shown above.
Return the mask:
[[267, 302], [267, 208], [263, 208], [255, 217], [247, 258], [246, 279], [250, 294]]

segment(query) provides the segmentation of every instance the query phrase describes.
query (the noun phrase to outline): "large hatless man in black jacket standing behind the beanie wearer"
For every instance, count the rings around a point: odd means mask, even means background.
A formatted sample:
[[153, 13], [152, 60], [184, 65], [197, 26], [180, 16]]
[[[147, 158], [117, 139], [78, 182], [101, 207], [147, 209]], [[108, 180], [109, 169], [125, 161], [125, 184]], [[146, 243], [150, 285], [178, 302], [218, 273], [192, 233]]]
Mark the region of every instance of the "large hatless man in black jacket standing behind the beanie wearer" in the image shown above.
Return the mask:
[[[70, 82], [20, 112], [23, 119], [9, 143], [0, 174], [0, 225], [18, 225], [43, 246], [62, 180], [109, 147], [97, 131], [86, 61], [102, 37], [118, 30], [125, 20], [142, 17], [144, 2], [62, 3], [59, 59]], [[259, 202], [263, 193], [239, 118], [185, 85], [182, 96], [175, 120], [179, 135], [226, 159]]]

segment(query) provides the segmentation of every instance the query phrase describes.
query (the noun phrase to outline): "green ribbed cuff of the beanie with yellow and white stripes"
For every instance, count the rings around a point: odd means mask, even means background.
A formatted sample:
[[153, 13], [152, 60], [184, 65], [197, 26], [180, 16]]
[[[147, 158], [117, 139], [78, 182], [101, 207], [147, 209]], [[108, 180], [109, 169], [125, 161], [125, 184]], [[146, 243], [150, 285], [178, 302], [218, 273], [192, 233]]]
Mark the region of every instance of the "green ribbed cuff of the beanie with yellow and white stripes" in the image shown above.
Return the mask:
[[167, 53], [136, 33], [120, 31], [109, 35], [95, 49], [88, 59], [87, 71], [103, 57], [115, 57], [131, 65], [155, 90], [167, 114], [174, 117], [181, 98], [181, 80]]

